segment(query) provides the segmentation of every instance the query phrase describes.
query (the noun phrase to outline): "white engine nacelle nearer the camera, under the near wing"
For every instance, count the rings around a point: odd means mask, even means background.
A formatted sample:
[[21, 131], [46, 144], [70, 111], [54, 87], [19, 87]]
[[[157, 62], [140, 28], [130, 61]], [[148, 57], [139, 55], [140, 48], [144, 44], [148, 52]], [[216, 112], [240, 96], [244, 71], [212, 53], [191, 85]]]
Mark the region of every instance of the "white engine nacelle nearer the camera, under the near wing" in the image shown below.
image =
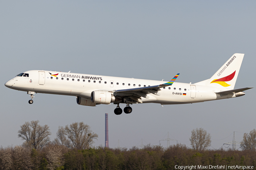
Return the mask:
[[108, 105], [116, 101], [116, 97], [110, 92], [92, 91], [91, 101], [92, 103]]

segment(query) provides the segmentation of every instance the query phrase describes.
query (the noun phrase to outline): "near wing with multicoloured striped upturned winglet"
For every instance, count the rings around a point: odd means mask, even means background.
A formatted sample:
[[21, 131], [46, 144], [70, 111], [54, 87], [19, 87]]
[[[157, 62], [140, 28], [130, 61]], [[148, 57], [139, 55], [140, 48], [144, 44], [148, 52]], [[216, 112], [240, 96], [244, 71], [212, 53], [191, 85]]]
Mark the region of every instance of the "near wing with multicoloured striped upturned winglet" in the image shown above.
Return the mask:
[[148, 99], [149, 97], [147, 94], [160, 95], [160, 93], [158, 92], [161, 90], [160, 88], [171, 86], [178, 76], [179, 73], [176, 76], [174, 76], [174, 78], [172, 78], [172, 80], [170, 80], [169, 82], [156, 86], [116, 90], [114, 92], [114, 95], [117, 97], [129, 98], [131, 100], [136, 101], [135, 103], [142, 103], [141, 97]]

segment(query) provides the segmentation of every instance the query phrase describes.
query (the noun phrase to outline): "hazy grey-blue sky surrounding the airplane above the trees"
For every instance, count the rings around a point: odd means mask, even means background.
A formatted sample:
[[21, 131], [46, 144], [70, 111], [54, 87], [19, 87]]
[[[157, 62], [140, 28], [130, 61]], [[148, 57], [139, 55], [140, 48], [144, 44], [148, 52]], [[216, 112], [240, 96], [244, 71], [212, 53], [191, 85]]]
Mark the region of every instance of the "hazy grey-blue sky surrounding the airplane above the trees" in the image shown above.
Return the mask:
[[[109, 146], [132, 147], [167, 138], [190, 146], [191, 130], [212, 139], [255, 126], [255, 89], [234, 99], [185, 105], [135, 104], [131, 114], [116, 105], [80, 106], [71, 96], [36, 94], [4, 86], [28, 70], [196, 83], [210, 78], [234, 53], [244, 53], [235, 88], [255, 86], [255, 1], [1, 1], [0, 146], [20, 145], [25, 121], [39, 120], [56, 136], [58, 126], [83, 121]], [[125, 104], [120, 105], [122, 108]], [[171, 136], [172, 135], [172, 136]], [[236, 133], [237, 141], [243, 133]], [[232, 141], [212, 140], [213, 148]], [[170, 142], [176, 144], [176, 141]], [[162, 143], [166, 145], [166, 143]]]

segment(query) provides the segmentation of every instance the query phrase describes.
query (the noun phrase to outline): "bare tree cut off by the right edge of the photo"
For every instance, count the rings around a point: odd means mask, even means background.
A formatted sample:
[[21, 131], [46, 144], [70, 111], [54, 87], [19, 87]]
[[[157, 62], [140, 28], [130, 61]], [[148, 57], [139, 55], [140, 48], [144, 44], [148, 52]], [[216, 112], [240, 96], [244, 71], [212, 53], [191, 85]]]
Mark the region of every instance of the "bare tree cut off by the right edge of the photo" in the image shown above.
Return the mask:
[[256, 130], [253, 129], [250, 133], [243, 134], [243, 140], [240, 144], [242, 150], [256, 151]]

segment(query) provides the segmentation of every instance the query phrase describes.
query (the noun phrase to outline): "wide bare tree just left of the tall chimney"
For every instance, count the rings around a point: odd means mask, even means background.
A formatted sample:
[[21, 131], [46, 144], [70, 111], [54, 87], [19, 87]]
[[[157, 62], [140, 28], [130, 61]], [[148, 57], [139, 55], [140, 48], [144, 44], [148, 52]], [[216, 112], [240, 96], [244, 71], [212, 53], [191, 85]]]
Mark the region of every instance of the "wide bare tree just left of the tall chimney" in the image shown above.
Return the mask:
[[94, 139], [97, 139], [98, 135], [93, 133], [90, 126], [84, 124], [84, 122], [75, 122], [69, 126], [59, 127], [57, 131], [57, 140], [61, 145], [65, 145], [68, 148], [71, 148], [72, 145], [74, 148], [79, 150], [88, 149], [94, 143]]

